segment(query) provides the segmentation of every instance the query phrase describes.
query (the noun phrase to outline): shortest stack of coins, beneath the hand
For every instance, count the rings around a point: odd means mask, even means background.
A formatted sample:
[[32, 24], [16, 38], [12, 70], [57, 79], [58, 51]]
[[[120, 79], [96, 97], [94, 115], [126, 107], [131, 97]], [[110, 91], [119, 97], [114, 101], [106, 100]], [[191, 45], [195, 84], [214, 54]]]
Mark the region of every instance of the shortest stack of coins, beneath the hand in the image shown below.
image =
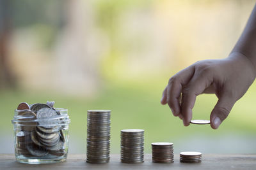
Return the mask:
[[180, 162], [200, 163], [200, 162], [202, 162], [202, 153], [200, 153], [200, 152], [180, 152]]

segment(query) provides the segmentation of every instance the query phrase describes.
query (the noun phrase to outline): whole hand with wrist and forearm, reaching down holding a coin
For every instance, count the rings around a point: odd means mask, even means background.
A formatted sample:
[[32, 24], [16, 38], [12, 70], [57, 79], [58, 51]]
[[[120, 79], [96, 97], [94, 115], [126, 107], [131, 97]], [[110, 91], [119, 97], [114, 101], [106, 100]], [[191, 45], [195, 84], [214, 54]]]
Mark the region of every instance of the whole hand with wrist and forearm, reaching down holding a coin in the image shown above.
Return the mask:
[[225, 59], [201, 60], [175, 74], [163, 91], [161, 104], [168, 104], [175, 117], [189, 125], [196, 96], [215, 94], [211, 111], [212, 129], [218, 129], [232, 107], [256, 77], [256, 6], [236, 43]]

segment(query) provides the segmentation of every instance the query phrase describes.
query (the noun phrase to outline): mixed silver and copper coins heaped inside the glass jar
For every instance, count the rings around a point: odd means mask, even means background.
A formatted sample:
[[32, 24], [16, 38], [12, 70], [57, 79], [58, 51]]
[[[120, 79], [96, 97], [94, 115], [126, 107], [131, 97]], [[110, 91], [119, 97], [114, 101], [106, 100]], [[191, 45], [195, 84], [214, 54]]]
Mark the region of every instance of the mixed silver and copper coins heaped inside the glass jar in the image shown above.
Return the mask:
[[46, 157], [65, 155], [65, 136], [60, 111], [53, 108], [54, 102], [20, 103], [15, 120], [20, 131], [15, 133], [15, 153], [24, 157]]

